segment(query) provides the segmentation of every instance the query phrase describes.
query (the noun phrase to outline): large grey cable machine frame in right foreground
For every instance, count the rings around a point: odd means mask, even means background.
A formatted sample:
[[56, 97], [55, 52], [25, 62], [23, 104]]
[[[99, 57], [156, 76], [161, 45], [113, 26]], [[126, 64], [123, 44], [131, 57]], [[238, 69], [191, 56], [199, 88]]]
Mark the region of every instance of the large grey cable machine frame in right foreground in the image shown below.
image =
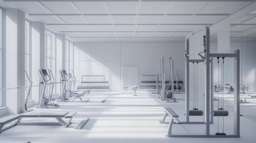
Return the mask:
[[[189, 122], [189, 62], [204, 62], [204, 134], [168, 134], [168, 137], [240, 137], [240, 50], [234, 51], [234, 53], [210, 53], [210, 30], [208, 26], [205, 26], [200, 31], [204, 31], [204, 51], [195, 53], [200, 55], [202, 59], [189, 59], [189, 38], [195, 33], [190, 33], [186, 36], [186, 122], [182, 124], [193, 123]], [[198, 32], [200, 32], [198, 31]], [[196, 33], [198, 33], [196, 32]], [[204, 53], [204, 56], [201, 55]], [[195, 55], [191, 54], [191, 55]], [[223, 122], [223, 132], [216, 132], [216, 134], [210, 134], [210, 123], [213, 123], [213, 116], [223, 117], [228, 115], [228, 112], [224, 109], [213, 111], [213, 58], [220, 58], [224, 60], [226, 57], [234, 58], [234, 134], [224, 133], [224, 122]], [[224, 69], [224, 68], [223, 68]], [[223, 70], [222, 69], [222, 70]], [[223, 72], [224, 73], [224, 72]], [[211, 76], [210, 76], [211, 75]], [[224, 75], [222, 75], [222, 78]], [[222, 84], [224, 82], [222, 81]], [[222, 98], [223, 101], [223, 98]], [[222, 102], [221, 101], [221, 102]], [[222, 106], [223, 108], [223, 106]]]

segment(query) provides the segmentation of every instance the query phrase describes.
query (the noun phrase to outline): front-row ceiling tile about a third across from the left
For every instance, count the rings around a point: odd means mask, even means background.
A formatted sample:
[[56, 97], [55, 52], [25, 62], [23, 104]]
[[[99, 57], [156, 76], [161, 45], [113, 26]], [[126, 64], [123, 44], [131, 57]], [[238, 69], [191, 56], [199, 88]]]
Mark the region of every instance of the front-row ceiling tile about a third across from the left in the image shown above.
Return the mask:
[[81, 13], [108, 13], [105, 2], [73, 2]]

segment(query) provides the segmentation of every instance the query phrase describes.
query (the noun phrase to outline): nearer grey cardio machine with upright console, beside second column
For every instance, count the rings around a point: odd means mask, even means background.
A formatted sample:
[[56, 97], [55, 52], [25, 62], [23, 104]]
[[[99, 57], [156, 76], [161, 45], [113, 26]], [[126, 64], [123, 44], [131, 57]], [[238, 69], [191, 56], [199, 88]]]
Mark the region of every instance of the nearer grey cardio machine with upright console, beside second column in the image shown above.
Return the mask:
[[39, 84], [43, 84], [43, 89], [42, 93], [39, 99], [39, 102], [36, 104], [36, 108], [58, 108], [58, 104], [50, 103], [52, 99], [52, 91], [54, 87], [54, 82], [50, 82], [50, 87], [49, 87], [49, 95], [47, 96], [47, 93], [45, 92], [46, 85], [48, 81], [51, 81], [51, 76], [52, 71], [48, 69], [49, 74], [47, 73], [46, 69], [40, 69], [38, 70], [38, 75], [40, 77], [40, 82]]

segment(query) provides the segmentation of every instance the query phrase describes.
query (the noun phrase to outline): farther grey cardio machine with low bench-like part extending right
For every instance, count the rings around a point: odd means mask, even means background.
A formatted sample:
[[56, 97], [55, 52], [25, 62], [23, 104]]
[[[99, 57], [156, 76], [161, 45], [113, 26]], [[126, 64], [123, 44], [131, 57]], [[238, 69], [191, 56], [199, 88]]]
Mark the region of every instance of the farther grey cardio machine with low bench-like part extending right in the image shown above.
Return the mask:
[[[58, 102], [74, 101], [76, 99], [80, 99], [81, 101], [83, 101], [81, 96], [83, 96], [84, 94], [89, 94], [90, 93], [91, 90], [86, 90], [86, 91], [81, 92], [81, 93], [73, 93], [72, 94], [72, 92], [70, 92], [70, 94], [68, 94], [68, 90], [66, 89], [66, 84], [67, 84], [67, 81], [72, 77], [70, 77], [67, 74], [66, 70], [59, 70], [59, 74], [60, 74], [60, 77], [61, 77], [61, 82], [63, 82], [63, 85], [62, 85], [62, 88], [61, 88], [61, 95], [57, 99]], [[70, 83], [69, 90], [71, 89], [71, 84], [72, 84], [72, 82]], [[88, 102], [88, 101], [89, 101], [89, 99], [86, 99], [84, 102]]]

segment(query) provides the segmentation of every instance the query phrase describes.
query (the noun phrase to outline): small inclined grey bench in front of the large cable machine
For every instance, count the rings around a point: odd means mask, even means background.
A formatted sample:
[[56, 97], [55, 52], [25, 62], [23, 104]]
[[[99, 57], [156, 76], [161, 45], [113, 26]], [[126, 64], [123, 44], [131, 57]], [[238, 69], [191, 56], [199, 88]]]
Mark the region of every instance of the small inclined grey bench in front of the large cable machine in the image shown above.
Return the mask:
[[[164, 110], [166, 112], [166, 114], [164, 115], [164, 118], [162, 119], [162, 121], [159, 121], [160, 124], [169, 124], [168, 126], [168, 130], [167, 130], [167, 134], [166, 137], [169, 137], [171, 135], [171, 131], [172, 131], [172, 127], [173, 127], [173, 122], [177, 123], [177, 124], [181, 124], [182, 122], [178, 119], [179, 115], [177, 115], [172, 109], [171, 107], [164, 107]], [[171, 116], [171, 121], [170, 122], [166, 122], [165, 119], [167, 116]]]

